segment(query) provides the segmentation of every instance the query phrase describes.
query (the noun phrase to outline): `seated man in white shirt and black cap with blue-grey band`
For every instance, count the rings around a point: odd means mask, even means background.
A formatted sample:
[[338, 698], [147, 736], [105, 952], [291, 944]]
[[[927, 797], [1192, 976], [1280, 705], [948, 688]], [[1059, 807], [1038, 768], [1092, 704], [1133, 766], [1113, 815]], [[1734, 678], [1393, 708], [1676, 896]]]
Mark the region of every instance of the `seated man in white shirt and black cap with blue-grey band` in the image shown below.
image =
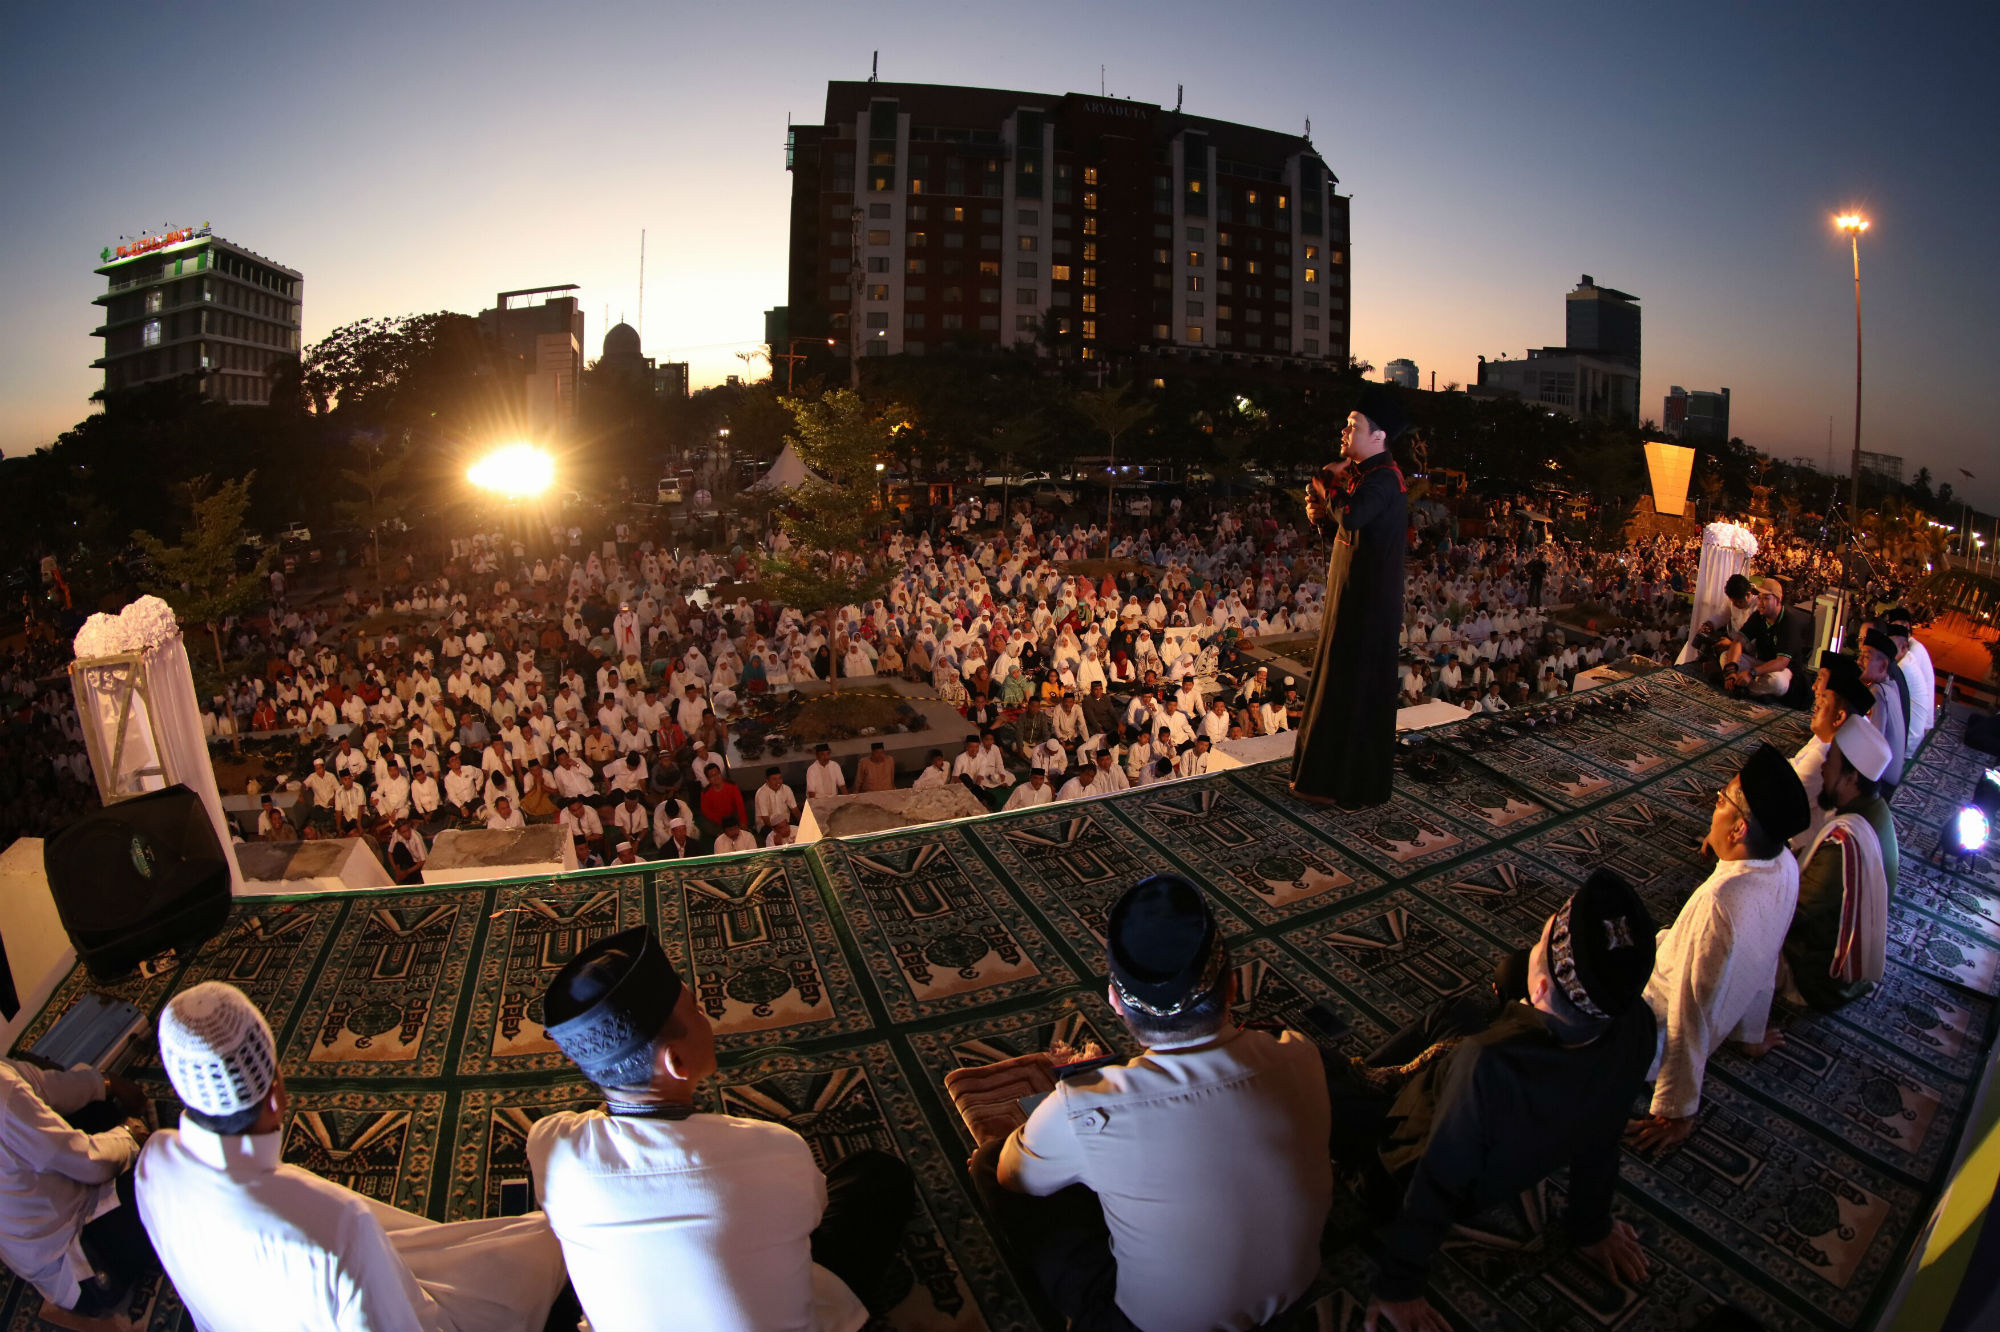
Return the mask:
[[698, 1114], [716, 1038], [652, 930], [580, 952], [542, 998], [604, 1108], [536, 1120], [528, 1168], [596, 1332], [852, 1332], [882, 1312], [916, 1194], [858, 1152], [822, 1176], [782, 1124]]

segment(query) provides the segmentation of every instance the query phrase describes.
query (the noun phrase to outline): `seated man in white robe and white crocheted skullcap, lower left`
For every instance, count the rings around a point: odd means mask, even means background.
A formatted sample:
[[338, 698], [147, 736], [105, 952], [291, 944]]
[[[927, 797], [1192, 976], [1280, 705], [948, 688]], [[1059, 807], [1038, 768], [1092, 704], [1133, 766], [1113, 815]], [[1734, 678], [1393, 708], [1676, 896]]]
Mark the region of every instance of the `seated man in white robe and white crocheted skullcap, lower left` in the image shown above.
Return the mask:
[[208, 980], [176, 994], [160, 1064], [186, 1110], [140, 1154], [138, 1208], [204, 1332], [548, 1322], [564, 1270], [540, 1212], [444, 1226], [280, 1162], [284, 1078], [242, 990]]

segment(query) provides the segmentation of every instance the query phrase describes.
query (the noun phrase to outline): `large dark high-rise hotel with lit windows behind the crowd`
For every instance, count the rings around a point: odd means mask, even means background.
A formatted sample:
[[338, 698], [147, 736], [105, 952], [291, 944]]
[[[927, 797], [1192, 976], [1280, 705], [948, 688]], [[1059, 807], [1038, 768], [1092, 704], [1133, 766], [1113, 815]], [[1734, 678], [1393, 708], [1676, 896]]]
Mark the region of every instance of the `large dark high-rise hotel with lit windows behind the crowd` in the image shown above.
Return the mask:
[[[792, 126], [788, 332], [1348, 360], [1348, 200], [1308, 138], [1088, 94], [832, 82]], [[1044, 334], [1046, 326], [1046, 334]]]

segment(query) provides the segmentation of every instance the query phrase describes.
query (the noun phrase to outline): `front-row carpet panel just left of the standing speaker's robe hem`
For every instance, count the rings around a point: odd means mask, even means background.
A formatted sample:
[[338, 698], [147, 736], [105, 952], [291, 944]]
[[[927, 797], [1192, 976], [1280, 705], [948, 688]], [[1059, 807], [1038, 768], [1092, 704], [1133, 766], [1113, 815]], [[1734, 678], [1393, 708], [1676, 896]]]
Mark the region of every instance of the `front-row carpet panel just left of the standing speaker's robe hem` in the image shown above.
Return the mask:
[[[1290, 920], [1374, 892], [1384, 882], [1366, 862], [1226, 782], [1176, 782], [1112, 808], [1254, 924]], [[1116, 892], [1122, 890], [1120, 884]], [[1224, 924], [1224, 930], [1234, 928], [1236, 922]], [[1102, 914], [1092, 948], [1104, 948]]]

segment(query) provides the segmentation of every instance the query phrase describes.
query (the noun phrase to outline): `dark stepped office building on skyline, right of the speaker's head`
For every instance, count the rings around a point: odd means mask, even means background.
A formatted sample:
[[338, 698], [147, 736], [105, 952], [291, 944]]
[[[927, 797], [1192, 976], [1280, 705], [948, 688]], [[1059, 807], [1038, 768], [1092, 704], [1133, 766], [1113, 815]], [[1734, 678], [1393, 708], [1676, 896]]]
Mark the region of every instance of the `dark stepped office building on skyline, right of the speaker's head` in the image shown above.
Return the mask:
[[1564, 302], [1568, 346], [1528, 348], [1520, 360], [1480, 356], [1472, 394], [1520, 398], [1576, 418], [1638, 424], [1638, 296], [1590, 274]]

